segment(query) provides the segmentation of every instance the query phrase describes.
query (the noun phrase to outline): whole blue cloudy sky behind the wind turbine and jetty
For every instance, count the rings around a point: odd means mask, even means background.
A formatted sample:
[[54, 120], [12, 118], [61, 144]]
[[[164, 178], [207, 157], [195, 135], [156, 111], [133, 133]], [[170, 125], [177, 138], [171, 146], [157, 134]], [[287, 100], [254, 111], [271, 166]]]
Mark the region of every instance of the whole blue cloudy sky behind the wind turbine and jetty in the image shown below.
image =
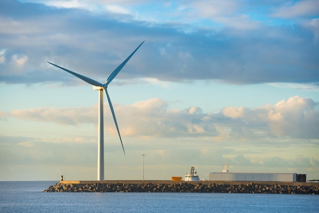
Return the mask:
[[317, 0], [0, 1], [0, 180], [231, 172], [319, 178]]

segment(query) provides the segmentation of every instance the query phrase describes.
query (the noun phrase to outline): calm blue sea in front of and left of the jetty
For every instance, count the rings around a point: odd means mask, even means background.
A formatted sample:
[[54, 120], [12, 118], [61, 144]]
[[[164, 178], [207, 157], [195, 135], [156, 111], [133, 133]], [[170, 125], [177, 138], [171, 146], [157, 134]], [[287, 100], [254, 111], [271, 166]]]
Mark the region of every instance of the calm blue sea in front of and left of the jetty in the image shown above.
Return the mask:
[[0, 181], [0, 212], [319, 212], [318, 195], [43, 193], [58, 181]]

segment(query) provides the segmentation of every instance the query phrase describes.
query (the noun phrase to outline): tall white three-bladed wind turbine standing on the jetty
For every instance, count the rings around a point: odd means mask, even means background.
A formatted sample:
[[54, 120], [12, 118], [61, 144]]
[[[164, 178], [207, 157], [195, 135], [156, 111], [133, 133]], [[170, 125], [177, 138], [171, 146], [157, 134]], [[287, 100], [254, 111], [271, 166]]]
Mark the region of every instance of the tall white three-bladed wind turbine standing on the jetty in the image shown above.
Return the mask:
[[99, 91], [99, 98], [98, 98], [98, 156], [97, 156], [97, 180], [104, 180], [104, 135], [103, 135], [103, 90], [105, 92], [105, 95], [108, 98], [108, 102], [110, 105], [110, 109], [113, 115], [113, 119], [114, 119], [114, 123], [117, 129], [117, 132], [119, 134], [119, 138], [121, 141], [121, 145], [123, 148], [123, 152], [125, 154], [125, 150], [124, 150], [124, 146], [122, 143], [122, 138], [120, 135], [120, 130], [119, 127], [117, 125], [117, 121], [115, 118], [115, 113], [114, 113], [114, 109], [111, 103], [111, 99], [109, 96], [109, 93], [107, 91], [108, 85], [112, 82], [112, 80], [115, 78], [115, 76], [120, 72], [120, 70], [124, 67], [124, 65], [126, 64], [126, 62], [128, 62], [128, 60], [135, 54], [135, 52], [140, 48], [140, 46], [144, 43], [144, 41], [131, 53], [131, 55], [129, 55], [127, 57], [127, 59], [125, 59], [125, 61], [122, 62], [122, 64], [120, 64], [111, 74], [110, 76], [107, 78], [107, 81], [105, 81], [104, 84], [101, 84], [91, 78], [88, 78], [86, 76], [80, 75], [76, 72], [73, 72], [71, 70], [65, 69], [63, 67], [60, 67], [58, 65], [52, 64], [50, 62], [47, 62], [51, 65], [54, 65], [60, 69], [63, 69], [64, 71], [67, 71], [69, 73], [71, 73], [72, 75], [75, 75], [78, 78], [81, 78], [83, 81], [89, 83], [90, 85], [93, 85], [93, 90], [98, 90]]

